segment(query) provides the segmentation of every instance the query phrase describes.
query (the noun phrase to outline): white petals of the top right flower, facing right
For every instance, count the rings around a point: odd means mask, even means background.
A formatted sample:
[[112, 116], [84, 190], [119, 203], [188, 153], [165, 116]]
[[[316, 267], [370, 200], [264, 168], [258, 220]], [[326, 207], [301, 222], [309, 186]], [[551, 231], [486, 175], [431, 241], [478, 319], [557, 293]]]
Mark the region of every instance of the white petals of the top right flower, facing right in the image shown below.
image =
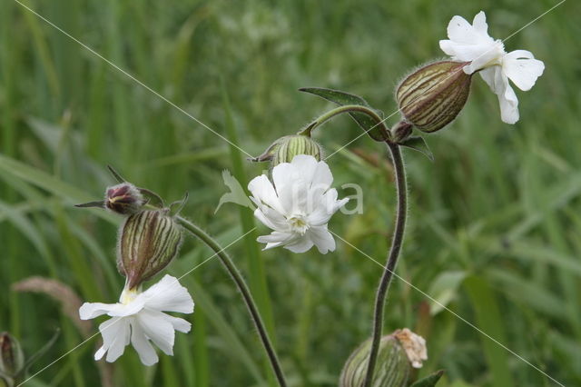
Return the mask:
[[487, 16], [480, 11], [472, 25], [463, 17], [454, 16], [448, 24], [449, 40], [440, 40], [439, 46], [453, 60], [469, 62], [466, 74], [480, 72], [490, 89], [497, 94], [502, 121], [518, 121], [517, 94], [508, 84], [510, 79], [520, 90], [527, 91], [543, 74], [545, 64], [535, 59], [529, 51], [505, 51], [502, 41], [488, 35]]

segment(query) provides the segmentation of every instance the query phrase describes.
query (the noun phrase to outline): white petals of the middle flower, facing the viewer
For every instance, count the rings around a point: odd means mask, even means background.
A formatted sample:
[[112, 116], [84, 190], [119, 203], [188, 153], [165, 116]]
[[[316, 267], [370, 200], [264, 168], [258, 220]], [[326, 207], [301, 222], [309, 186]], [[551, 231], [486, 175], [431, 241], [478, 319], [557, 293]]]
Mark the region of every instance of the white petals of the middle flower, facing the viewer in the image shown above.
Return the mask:
[[258, 242], [266, 249], [284, 246], [293, 253], [304, 253], [313, 244], [320, 253], [335, 250], [335, 240], [327, 229], [330, 217], [349, 199], [337, 200], [337, 190], [330, 189], [333, 175], [329, 165], [313, 156], [299, 154], [291, 163], [281, 163], [272, 169], [271, 184], [262, 174], [248, 184], [254, 211], [262, 223], [270, 227], [270, 235]]

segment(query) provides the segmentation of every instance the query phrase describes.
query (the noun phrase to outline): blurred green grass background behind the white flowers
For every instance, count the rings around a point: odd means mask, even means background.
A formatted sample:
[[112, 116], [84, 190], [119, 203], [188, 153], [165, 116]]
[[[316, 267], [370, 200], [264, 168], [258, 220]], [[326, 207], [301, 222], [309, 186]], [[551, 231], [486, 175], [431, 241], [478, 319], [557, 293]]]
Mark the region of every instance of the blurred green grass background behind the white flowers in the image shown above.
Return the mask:
[[[39, 14], [230, 138], [250, 154], [295, 133], [331, 105], [297, 91], [332, 87], [392, 113], [393, 88], [442, 57], [453, 15], [487, 13], [490, 35], [512, 34], [556, 1], [26, 1]], [[410, 215], [398, 273], [566, 385], [581, 384], [581, 27], [568, 1], [511, 37], [547, 66], [518, 92], [520, 121], [503, 124], [496, 95], [476, 77], [458, 119], [427, 135], [435, 162], [405, 151]], [[113, 303], [123, 287], [114, 251], [120, 219], [74, 203], [113, 184], [113, 164], [224, 245], [251, 225], [234, 204], [214, 210], [221, 171], [243, 185], [265, 165], [107, 65], [13, 0], [0, 0], [0, 331], [25, 352], [61, 327], [39, 371], [84, 340], [45, 293], [11, 285], [44, 276], [82, 300]], [[388, 121], [398, 121], [395, 114]], [[360, 134], [348, 117], [315, 134], [328, 154]], [[357, 183], [364, 213], [330, 227], [379, 262], [392, 231], [394, 185], [386, 152], [361, 137], [329, 159], [335, 185]], [[245, 176], [245, 177], [243, 177]], [[341, 190], [340, 196], [352, 194]], [[242, 225], [243, 224], [243, 225]], [[335, 253], [259, 253], [259, 226], [229, 252], [251, 283], [292, 386], [336, 385], [343, 362], [370, 334], [381, 268], [338, 241]], [[170, 273], [211, 256], [188, 238]], [[260, 342], [218, 260], [183, 278], [196, 302], [175, 356], [152, 368], [133, 348], [109, 368], [85, 343], [27, 383], [125, 386], [262, 386], [271, 375]], [[68, 300], [70, 302], [71, 300]], [[441, 386], [555, 385], [456, 316], [395, 280], [385, 332], [409, 327], [428, 341], [420, 374], [445, 369]], [[93, 327], [91, 332], [96, 328]], [[106, 382], [103, 382], [106, 383]], [[111, 384], [110, 384], [111, 385]]]

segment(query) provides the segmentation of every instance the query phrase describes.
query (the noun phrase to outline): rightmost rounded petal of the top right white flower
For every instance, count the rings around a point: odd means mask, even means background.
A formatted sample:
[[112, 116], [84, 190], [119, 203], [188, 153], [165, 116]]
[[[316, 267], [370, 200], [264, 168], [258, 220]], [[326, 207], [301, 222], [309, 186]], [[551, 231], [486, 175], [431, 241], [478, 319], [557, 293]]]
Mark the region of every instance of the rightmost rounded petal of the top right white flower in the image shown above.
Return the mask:
[[525, 50], [516, 50], [505, 55], [502, 67], [507, 77], [523, 91], [530, 90], [545, 70], [545, 64]]

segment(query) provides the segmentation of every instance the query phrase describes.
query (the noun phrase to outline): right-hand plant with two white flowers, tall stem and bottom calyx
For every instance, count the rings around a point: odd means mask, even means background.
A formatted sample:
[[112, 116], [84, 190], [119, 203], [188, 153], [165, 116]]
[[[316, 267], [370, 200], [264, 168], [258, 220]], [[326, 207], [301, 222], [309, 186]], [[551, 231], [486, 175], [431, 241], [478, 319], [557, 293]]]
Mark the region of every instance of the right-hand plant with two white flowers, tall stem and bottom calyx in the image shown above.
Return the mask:
[[394, 233], [387, 253], [385, 271], [379, 280], [372, 318], [371, 338], [363, 342], [345, 363], [340, 387], [428, 386], [438, 382], [442, 372], [414, 381], [415, 372], [428, 358], [426, 342], [409, 329], [382, 335], [384, 304], [396, 270], [408, 216], [408, 187], [402, 147], [419, 151], [432, 159], [424, 139], [416, 131], [433, 133], [460, 114], [468, 101], [474, 74], [480, 74], [500, 104], [500, 117], [507, 124], [518, 121], [517, 95], [512, 81], [529, 90], [544, 71], [543, 62], [524, 50], [505, 51], [502, 41], [487, 33], [484, 12], [472, 25], [460, 16], [448, 24], [448, 39], [439, 42], [448, 59], [428, 63], [404, 77], [395, 90], [401, 119], [391, 128], [384, 114], [358, 95], [326, 88], [302, 88], [338, 107], [320, 115], [298, 134], [276, 140], [256, 162], [270, 162], [270, 174], [254, 178], [248, 185], [256, 204], [255, 217], [271, 229], [259, 237], [265, 249], [283, 247], [304, 253], [316, 246], [320, 253], [335, 250], [328, 230], [330, 217], [347, 201], [338, 200], [330, 188], [330, 165], [322, 158], [322, 147], [311, 138], [322, 124], [340, 114], [350, 114], [372, 140], [387, 146], [395, 171], [398, 204]]

